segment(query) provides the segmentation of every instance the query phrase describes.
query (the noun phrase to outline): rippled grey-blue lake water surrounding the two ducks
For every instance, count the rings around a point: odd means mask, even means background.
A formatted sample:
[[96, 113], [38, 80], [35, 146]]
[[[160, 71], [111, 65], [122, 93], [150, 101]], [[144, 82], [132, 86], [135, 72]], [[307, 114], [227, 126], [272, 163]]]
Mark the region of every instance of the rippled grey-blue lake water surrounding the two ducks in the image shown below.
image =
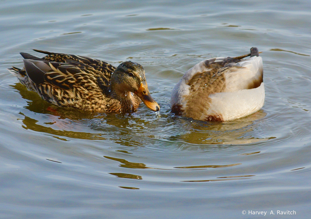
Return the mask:
[[[0, 218], [310, 218], [310, 20], [309, 1], [1, 0]], [[253, 46], [259, 112], [170, 113], [185, 71]], [[7, 71], [31, 49], [140, 63], [160, 116], [53, 107]]]

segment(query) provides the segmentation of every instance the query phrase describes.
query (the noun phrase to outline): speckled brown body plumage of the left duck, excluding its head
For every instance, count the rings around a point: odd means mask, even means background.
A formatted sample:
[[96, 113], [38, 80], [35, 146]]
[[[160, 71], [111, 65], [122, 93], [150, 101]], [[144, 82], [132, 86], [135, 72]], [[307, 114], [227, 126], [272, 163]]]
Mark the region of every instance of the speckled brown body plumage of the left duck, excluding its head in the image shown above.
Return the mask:
[[49, 103], [103, 112], [131, 112], [141, 103], [137, 95], [128, 95], [123, 99], [111, 96], [109, 83], [116, 68], [107, 62], [77, 55], [35, 51], [47, 56], [38, 58], [21, 53], [25, 58], [25, 67], [12, 67], [9, 71]]

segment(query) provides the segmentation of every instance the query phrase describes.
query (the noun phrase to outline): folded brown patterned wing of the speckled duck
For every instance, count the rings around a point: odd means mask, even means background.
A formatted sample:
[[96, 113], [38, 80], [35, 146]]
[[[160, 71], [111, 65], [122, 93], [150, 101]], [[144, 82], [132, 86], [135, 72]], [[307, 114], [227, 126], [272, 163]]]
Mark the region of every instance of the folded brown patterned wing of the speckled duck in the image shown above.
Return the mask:
[[91, 98], [104, 99], [100, 72], [83, 63], [24, 59], [24, 64], [32, 87], [49, 103], [81, 108]]

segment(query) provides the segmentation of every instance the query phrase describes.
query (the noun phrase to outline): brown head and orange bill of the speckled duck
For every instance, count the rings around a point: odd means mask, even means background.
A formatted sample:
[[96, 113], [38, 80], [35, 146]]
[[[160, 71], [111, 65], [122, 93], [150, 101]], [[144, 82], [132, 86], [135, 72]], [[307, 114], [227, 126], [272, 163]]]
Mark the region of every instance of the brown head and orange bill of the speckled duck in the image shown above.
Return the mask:
[[160, 106], [149, 93], [144, 68], [136, 62], [122, 62], [111, 75], [110, 86], [111, 91], [113, 91], [112, 95], [116, 98], [127, 97], [128, 93], [132, 92], [136, 94], [149, 109], [153, 111], [160, 110]]

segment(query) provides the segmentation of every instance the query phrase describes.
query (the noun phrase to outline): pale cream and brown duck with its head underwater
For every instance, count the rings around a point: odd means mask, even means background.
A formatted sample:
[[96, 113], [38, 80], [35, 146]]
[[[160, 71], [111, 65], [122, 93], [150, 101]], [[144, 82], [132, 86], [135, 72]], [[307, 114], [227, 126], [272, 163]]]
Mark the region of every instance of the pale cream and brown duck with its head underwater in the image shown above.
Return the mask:
[[244, 56], [207, 59], [189, 69], [175, 85], [171, 110], [204, 121], [248, 116], [263, 106], [262, 75], [262, 58], [254, 47]]

